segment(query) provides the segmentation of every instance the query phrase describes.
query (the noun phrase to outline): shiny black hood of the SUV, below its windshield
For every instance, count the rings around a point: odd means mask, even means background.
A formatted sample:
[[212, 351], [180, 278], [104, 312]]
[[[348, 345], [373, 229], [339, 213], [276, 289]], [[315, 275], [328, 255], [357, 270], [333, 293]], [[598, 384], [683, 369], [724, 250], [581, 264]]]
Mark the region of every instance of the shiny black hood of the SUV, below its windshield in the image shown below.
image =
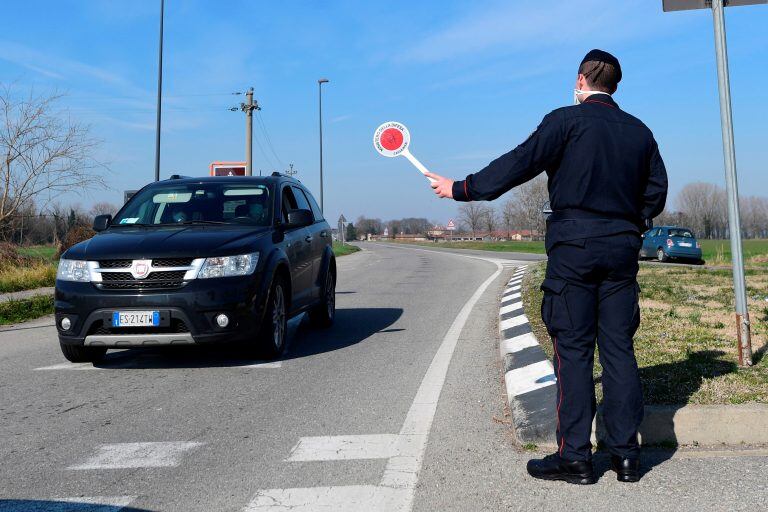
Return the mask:
[[231, 256], [258, 250], [270, 233], [255, 226], [120, 227], [103, 231], [64, 253], [69, 259], [151, 259]]

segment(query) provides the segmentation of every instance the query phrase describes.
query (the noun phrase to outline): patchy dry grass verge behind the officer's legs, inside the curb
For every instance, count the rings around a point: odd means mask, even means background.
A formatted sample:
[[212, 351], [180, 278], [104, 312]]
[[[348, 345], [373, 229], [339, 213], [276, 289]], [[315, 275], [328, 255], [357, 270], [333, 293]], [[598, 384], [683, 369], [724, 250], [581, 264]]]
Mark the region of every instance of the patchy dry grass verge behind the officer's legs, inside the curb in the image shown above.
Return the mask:
[[[525, 312], [545, 352], [552, 344], [541, 321], [546, 263], [523, 280]], [[768, 272], [748, 271], [754, 366], [740, 368], [729, 270], [641, 265], [635, 353], [647, 404], [768, 403]], [[598, 400], [602, 367], [594, 370]]]

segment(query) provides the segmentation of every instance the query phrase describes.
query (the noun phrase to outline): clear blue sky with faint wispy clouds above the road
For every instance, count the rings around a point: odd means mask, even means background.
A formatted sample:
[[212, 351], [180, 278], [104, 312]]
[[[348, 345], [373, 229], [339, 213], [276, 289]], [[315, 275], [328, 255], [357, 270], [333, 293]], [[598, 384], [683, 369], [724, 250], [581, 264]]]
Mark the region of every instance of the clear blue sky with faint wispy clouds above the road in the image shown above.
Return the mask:
[[[4, 6], [0, 81], [67, 93], [71, 116], [104, 141], [112, 190], [67, 201], [119, 203], [153, 177], [158, 4]], [[729, 8], [726, 21], [740, 188], [768, 195], [768, 7]], [[228, 111], [242, 96], [230, 93], [253, 86], [269, 136], [254, 123], [254, 169], [293, 163], [317, 194], [316, 81], [328, 77], [326, 216], [445, 222], [456, 203], [405, 159], [376, 154], [376, 126], [405, 123], [427, 167], [464, 177], [569, 104], [595, 47], [621, 60], [615, 99], [654, 131], [672, 197], [690, 181], [723, 184], [711, 13], [662, 13], [661, 0], [167, 0], [161, 173], [243, 159], [244, 115]]]

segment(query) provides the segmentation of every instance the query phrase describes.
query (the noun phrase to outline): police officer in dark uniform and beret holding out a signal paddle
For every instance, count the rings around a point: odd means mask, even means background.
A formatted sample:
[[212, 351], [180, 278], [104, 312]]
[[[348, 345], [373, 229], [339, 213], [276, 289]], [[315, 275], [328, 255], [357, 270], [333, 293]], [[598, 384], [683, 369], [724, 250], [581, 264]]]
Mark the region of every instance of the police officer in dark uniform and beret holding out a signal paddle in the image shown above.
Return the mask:
[[613, 55], [592, 50], [576, 79], [576, 105], [544, 117], [517, 148], [466, 179], [431, 175], [440, 197], [496, 199], [547, 173], [547, 273], [542, 319], [557, 377], [557, 452], [528, 462], [545, 480], [592, 484], [595, 342], [603, 366], [603, 416], [619, 481], [640, 478], [637, 429], [643, 396], [632, 338], [640, 324], [640, 232], [661, 213], [667, 173], [651, 131], [612, 98], [621, 80]]

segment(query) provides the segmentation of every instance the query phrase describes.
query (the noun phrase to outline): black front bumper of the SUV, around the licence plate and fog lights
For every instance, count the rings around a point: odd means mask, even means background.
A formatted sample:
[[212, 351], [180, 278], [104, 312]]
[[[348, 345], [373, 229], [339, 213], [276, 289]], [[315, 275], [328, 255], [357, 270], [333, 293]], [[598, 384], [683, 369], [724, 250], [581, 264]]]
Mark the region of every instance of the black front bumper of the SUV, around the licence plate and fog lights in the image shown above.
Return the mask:
[[[255, 336], [265, 298], [259, 293], [260, 274], [195, 279], [174, 290], [101, 290], [91, 283], [56, 281], [55, 316], [64, 344], [107, 347], [189, 345], [241, 341]], [[113, 311], [160, 311], [159, 327], [111, 325]], [[219, 327], [215, 317], [229, 317]], [[61, 320], [71, 322], [68, 330]]]

